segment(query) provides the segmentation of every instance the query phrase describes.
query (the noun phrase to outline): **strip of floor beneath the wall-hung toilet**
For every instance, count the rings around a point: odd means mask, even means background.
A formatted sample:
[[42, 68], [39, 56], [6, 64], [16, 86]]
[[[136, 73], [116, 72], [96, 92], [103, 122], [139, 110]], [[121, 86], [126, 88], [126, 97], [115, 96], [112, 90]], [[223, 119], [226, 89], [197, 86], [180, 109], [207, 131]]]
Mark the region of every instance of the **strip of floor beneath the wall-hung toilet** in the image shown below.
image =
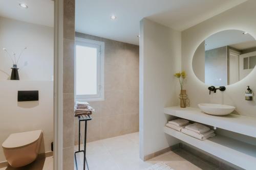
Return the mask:
[[0, 170], [52, 170], [52, 169], [53, 169], [52, 156], [36, 159], [33, 163], [20, 168], [13, 168], [11, 166], [0, 168]]

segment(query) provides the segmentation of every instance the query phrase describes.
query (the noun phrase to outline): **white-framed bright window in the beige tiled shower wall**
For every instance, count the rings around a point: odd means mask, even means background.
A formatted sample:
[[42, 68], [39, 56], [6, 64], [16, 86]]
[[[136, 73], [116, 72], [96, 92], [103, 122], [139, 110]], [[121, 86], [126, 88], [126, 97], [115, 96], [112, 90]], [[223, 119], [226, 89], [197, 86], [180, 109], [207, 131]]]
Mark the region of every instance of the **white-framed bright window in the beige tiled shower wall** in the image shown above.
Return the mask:
[[104, 42], [76, 38], [76, 101], [98, 101], [104, 99], [103, 67]]

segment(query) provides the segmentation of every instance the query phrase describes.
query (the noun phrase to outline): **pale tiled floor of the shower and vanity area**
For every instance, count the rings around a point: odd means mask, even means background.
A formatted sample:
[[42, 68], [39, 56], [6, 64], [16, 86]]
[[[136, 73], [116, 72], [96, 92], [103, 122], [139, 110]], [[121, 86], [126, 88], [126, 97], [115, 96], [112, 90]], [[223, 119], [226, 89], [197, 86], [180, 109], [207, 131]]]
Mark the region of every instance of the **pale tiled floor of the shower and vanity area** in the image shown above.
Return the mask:
[[[78, 170], [82, 169], [82, 158], [78, 154]], [[184, 150], [170, 151], [143, 162], [139, 159], [139, 133], [89, 142], [87, 160], [90, 170], [139, 170], [158, 162], [166, 162], [175, 170], [219, 169]]]

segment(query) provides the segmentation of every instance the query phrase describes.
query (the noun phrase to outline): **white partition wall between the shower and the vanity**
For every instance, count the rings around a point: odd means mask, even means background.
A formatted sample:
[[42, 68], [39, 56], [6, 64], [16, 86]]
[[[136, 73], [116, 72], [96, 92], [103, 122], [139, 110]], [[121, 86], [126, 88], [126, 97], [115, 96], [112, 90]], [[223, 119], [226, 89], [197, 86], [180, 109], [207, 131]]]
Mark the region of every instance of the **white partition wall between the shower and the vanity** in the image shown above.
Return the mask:
[[181, 33], [148, 19], [140, 22], [140, 158], [178, 143], [163, 133], [166, 106], [178, 105]]

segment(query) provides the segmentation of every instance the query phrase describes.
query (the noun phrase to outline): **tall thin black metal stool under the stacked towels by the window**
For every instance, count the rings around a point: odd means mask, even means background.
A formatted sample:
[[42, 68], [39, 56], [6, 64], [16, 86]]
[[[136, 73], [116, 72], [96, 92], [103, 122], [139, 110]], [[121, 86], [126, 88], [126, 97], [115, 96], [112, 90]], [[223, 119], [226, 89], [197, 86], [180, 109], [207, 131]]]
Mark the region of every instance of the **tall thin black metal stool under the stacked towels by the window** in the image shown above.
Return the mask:
[[[79, 152], [83, 152], [83, 170], [86, 169], [86, 165], [89, 170], [88, 162], [86, 159], [86, 135], [87, 135], [87, 121], [91, 120], [92, 117], [90, 115], [79, 115], [77, 117], [78, 117], [78, 122], [79, 122], [79, 127], [78, 127], [79, 128], [79, 132], [78, 132], [78, 144], [79, 145], [78, 145], [78, 151], [75, 152], [75, 161], [76, 161], [76, 154]], [[81, 135], [81, 126], [80, 126], [81, 122], [84, 122], [84, 140]], [[82, 143], [83, 143], [83, 150], [80, 150], [80, 139], [82, 140]], [[78, 170], [77, 161], [76, 161], [76, 169]]]

